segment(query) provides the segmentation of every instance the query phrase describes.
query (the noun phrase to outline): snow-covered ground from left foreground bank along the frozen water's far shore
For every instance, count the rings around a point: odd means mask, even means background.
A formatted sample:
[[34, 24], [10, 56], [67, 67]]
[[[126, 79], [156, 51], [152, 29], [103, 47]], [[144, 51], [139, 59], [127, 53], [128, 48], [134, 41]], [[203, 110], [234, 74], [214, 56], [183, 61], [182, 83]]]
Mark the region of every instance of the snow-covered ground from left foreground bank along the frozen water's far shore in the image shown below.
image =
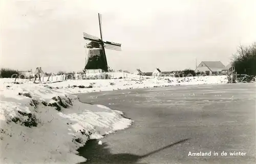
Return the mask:
[[[119, 76], [119, 75], [116, 75]], [[90, 138], [127, 128], [132, 121], [102, 105], [83, 104], [80, 92], [226, 83], [226, 76], [68, 80], [34, 84], [1, 79], [1, 163], [77, 163]]]

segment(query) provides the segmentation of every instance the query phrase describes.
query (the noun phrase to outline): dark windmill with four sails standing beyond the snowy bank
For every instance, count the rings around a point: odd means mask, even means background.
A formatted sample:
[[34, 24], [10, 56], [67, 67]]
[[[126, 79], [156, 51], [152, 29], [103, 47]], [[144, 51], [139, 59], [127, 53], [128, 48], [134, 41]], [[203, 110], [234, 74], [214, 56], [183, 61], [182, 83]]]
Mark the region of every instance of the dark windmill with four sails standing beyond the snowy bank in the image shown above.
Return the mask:
[[83, 33], [83, 39], [91, 42], [86, 45], [88, 48], [88, 57], [84, 69], [102, 69], [104, 72], [109, 71], [108, 62], [106, 61], [105, 49], [121, 51], [121, 44], [102, 39], [102, 16], [98, 13], [100, 38]]

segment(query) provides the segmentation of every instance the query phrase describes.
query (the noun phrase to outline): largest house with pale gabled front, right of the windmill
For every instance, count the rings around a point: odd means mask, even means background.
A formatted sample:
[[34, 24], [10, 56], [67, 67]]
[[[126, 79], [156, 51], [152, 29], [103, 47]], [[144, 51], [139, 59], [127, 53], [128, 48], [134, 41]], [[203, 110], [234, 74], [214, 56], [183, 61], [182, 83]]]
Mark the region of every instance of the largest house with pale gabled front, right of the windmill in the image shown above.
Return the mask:
[[202, 61], [196, 68], [195, 72], [202, 72], [206, 75], [218, 75], [222, 73], [225, 67], [221, 61]]

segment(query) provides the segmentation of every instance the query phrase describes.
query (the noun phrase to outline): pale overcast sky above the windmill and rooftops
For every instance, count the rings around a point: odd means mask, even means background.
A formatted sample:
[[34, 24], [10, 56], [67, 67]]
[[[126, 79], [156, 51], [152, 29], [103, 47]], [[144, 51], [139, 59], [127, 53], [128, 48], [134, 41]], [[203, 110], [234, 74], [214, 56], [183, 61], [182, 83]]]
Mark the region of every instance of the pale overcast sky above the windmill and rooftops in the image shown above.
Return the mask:
[[256, 41], [255, 0], [0, 0], [1, 67], [45, 72], [84, 68], [82, 32], [122, 43], [106, 50], [110, 67], [152, 72], [224, 65], [240, 44]]

